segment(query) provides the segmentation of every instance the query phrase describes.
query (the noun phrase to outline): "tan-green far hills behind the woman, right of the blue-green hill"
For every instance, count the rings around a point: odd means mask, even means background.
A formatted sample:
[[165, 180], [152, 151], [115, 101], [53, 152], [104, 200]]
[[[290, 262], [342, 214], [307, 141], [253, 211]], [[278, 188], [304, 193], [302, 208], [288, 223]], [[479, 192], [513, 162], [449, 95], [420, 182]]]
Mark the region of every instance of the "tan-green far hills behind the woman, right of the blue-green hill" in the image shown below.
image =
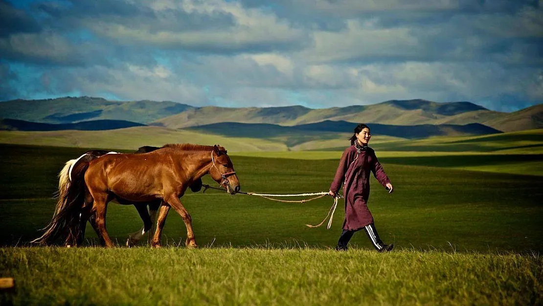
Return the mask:
[[[471, 115], [473, 121], [461, 121], [458, 118], [458, 120], [453, 120], [454, 123], [480, 123], [479, 118], [489, 120], [502, 114], [468, 102], [435, 103], [408, 100], [328, 109], [307, 109], [299, 106], [263, 109], [205, 107], [162, 118], [156, 123], [170, 128], [201, 126], [218, 122], [273, 123], [294, 126], [324, 120], [413, 125], [435, 124], [438, 121], [449, 123], [445, 118], [468, 113], [476, 113]], [[463, 116], [465, 119], [469, 117]]]

